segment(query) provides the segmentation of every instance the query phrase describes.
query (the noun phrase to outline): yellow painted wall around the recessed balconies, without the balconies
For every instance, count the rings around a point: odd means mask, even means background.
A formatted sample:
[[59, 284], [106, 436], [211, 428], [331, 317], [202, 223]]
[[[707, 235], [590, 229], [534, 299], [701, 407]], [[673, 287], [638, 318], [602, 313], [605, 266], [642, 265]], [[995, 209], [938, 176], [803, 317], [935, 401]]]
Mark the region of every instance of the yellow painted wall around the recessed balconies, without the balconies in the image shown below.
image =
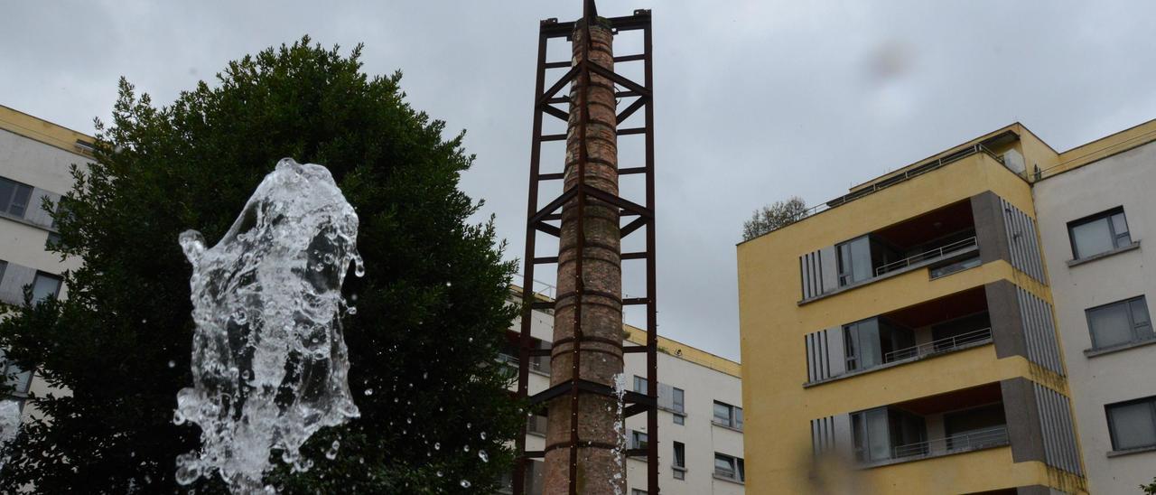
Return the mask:
[[[1022, 146], [1025, 146], [1021, 153], [1028, 163], [1031, 162], [1027, 155], [1047, 157], [1048, 152], [1040, 149], [1039, 142]], [[928, 280], [926, 269], [917, 269], [799, 304], [801, 254], [985, 191], [992, 191], [1033, 215], [1031, 189], [1027, 180], [987, 155], [972, 155], [739, 245], [747, 493], [815, 490], [810, 485], [816, 468], [810, 456], [812, 419], [1013, 377], [1042, 375], [1039, 367], [1023, 357], [1000, 360], [995, 356], [994, 346], [983, 346], [844, 381], [802, 386], [807, 379], [803, 343], [807, 333], [996, 280], [1013, 281], [1051, 301], [1046, 287], [1006, 261], [998, 260], [938, 280]], [[1055, 379], [1042, 382], [1054, 383]], [[969, 467], [972, 463], [975, 471]], [[962, 475], [969, 471], [985, 475], [981, 479]], [[1039, 463], [1013, 464], [1010, 449], [853, 472], [855, 479], [866, 483], [862, 487], [883, 490], [880, 493], [966, 493], [1048, 483], [1045, 466]]]

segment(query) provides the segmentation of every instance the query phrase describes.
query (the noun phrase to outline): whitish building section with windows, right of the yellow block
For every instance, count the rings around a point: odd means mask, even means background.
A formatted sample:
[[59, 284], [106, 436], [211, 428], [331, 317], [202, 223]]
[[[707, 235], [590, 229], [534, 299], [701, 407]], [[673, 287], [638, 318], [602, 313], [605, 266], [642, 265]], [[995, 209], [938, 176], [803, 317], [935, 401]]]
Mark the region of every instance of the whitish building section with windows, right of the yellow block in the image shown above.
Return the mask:
[[1156, 475], [1156, 121], [1119, 134], [1106, 156], [1033, 187], [1094, 494], [1140, 493]]

